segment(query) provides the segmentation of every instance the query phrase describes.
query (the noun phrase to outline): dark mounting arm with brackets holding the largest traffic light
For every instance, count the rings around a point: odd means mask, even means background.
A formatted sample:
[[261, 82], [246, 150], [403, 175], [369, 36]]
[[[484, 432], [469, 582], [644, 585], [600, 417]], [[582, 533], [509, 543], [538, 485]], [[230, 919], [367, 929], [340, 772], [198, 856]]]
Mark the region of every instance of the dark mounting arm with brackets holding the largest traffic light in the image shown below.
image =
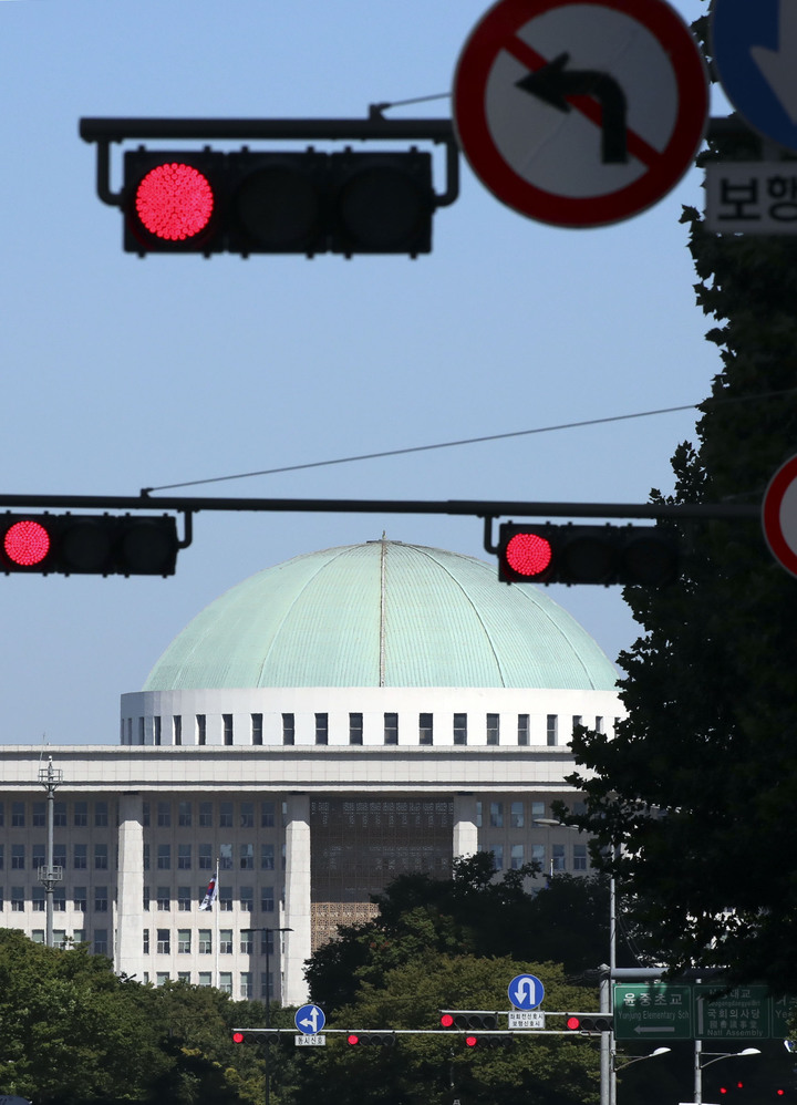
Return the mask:
[[435, 193], [435, 207], [448, 207], [459, 195], [459, 147], [449, 118], [384, 118], [372, 104], [368, 118], [100, 118], [80, 121], [80, 136], [97, 146], [96, 190], [104, 204], [122, 207], [121, 192], [111, 188], [111, 143], [134, 138], [330, 142], [386, 140], [443, 143], [446, 147], [446, 187]]

